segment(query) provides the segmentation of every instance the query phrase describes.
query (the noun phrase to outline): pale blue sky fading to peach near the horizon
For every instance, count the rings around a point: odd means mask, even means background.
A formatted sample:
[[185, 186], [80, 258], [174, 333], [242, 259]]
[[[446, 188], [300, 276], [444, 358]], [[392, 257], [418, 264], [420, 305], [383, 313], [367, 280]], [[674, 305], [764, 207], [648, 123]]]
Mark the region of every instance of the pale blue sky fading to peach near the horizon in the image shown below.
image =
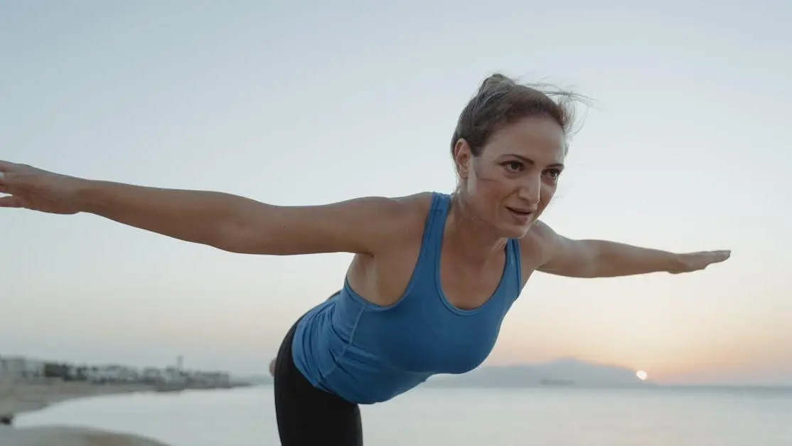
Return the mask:
[[[685, 275], [535, 274], [485, 364], [792, 384], [792, 3], [0, 0], [0, 159], [272, 204], [451, 192], [501, 72], [592, 97], [543, 220], [733, 250]], [[0, 355], [265, 372], [351, 254], [225, 253], [0, 212]]]

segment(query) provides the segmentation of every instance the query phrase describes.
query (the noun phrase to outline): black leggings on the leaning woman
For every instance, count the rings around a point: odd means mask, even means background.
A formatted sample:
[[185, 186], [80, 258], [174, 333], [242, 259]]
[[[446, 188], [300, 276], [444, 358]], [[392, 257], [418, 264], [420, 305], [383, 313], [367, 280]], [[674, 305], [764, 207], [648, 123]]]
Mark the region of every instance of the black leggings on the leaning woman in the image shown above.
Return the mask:
[[[299, 321], [298, 321], [299, 322]], [[291, 326], [275, 364], [275, 410], [282, 446], [362, 446], [360, 408], [313, 386], [291, 358]]]

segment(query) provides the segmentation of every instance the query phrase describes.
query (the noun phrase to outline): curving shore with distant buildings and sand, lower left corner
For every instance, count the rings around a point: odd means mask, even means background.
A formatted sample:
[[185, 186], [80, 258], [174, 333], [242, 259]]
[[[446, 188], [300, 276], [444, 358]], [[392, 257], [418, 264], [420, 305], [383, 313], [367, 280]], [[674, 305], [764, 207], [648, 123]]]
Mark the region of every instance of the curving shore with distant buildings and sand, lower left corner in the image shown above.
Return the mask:
[[[142, 436], [57, 423], [19, 426], [19, 417], [78, 398], [123, 394], [178, 394], [187, 390], [245, 387], [227, 372], [135, 368], [120, 364], [63, 364], [24, 356], [0, 356], [0, 444], [2, 446], [161, 446]], [[93, 424], [89, 423], [89, 426]], [[124, 429], [122, 429], [123, 432]]]

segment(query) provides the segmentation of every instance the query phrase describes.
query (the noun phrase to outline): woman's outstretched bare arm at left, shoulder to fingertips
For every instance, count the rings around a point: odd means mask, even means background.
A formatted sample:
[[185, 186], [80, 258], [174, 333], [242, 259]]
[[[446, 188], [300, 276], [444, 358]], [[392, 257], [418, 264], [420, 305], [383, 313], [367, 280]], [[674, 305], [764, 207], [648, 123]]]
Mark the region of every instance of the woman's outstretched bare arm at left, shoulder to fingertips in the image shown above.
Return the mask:
[[0, 207], [87, 212], [236, 253], [374, 253], [412, 227], [409, 199], [276, 206], [229, 193], [93, 181], [0, 162]]

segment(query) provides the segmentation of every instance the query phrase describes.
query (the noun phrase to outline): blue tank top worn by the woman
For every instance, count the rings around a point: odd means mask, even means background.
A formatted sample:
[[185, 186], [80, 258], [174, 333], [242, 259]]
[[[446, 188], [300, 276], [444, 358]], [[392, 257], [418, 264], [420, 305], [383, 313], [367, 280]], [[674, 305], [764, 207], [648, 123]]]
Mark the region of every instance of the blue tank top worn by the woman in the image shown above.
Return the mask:
[[439, 373], [469, 372], [489, 356], [520, 295], [520, 246], [506, 245], [501, 282], [482, 306], [462, 310], [440, 287], [440, 247], [451, 197], [432, 195], [421, 251], [406, 291], [382, 307], [341, 292], [300, 319], [292, 356], [314, 385], [349, 402], [383, 402]]

